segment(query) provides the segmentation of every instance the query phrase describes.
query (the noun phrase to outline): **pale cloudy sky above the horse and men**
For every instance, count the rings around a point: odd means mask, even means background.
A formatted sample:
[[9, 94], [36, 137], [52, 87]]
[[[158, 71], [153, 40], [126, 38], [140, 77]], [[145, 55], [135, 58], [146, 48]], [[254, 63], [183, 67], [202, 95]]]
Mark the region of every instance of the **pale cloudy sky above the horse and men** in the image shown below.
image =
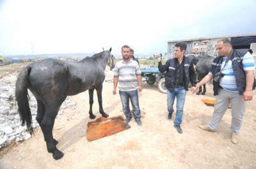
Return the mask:
[[98, 53], [127, 44], [135, 55], [167, 41], [256, 33], [256, 0], [0, 0], [0, 54]]

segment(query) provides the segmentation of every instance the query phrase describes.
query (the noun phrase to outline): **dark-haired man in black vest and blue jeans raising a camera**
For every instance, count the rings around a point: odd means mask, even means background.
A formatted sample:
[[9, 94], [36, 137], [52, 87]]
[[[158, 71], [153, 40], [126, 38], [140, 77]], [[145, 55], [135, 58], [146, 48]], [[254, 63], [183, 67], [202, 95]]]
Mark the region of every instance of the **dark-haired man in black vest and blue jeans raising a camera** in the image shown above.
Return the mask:
[[183, 42], [176, 43], [174, 46], [174, 58], [166, 61], [162, 65], [161, 57], [158, 57], [158, 69], [160, 72], [165, 72], [165, 85], [167, 90], [167, 109], [168, 119], [172, 118], [173, 102], [177, 98], [176, 104], [176, 118], [174, 120], [174, 127], [178, 133], [182, 133], [180, 124], [182, 122], [183, 107], [185, 103], [185, 96], [188, 91], [189, 83], [192, 86], [196, 84], [195, 70], [192, 64], [192, 59], [185, 57], [185, 50], [187, 45]]

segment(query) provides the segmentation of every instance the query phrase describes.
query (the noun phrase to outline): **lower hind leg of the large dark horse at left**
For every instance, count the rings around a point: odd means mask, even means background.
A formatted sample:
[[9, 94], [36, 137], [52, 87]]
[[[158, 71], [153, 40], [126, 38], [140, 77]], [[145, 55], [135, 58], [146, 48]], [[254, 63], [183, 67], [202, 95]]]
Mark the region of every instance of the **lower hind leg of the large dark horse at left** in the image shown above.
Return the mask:
[[46, 105], [45, 113], [41, 121], [41, 129], [43, 132], [44, 140], [46, 142], [48, 152], [53, 153], [53, 158], [55, 160], [61, 159], [63, 157], [63, 152], [56, 148], [56, 142], [52, 135], [52, 129], [54, 121], [59, 111], [60, 106], [57, 105]]

